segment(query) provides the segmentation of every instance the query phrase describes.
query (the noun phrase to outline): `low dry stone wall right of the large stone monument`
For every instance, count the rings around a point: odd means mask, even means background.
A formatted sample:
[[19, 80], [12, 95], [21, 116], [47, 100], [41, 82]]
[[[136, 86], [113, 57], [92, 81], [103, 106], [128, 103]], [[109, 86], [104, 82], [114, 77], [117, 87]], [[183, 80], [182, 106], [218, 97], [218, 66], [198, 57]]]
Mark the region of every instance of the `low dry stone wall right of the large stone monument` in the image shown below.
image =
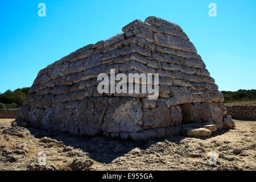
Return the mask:
[[256, 105], [233, 105], [226, 108], [233, 119], [256, 121]]

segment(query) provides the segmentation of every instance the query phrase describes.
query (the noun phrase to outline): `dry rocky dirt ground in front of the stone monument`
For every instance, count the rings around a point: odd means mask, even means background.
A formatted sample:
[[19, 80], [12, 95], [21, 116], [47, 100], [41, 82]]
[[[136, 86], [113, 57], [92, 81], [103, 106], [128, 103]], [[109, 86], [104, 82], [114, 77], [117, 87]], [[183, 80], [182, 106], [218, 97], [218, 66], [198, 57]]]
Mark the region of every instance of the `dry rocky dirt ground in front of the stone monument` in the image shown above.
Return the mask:
[[[255, 121], [238, 121], [207, 138], [147, 142], [74, 137], [0, 119], [0, 170], [254, 170]], [[46, 163], [43, 163], [45, 159]]]

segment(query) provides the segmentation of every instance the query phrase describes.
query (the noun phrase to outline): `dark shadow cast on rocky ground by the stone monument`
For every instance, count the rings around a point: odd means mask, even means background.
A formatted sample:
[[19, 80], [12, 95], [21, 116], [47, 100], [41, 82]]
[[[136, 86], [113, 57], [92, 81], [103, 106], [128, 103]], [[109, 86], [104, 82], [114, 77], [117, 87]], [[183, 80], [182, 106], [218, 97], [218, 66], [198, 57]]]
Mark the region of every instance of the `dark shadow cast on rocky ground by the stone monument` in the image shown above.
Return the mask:
[[[28, 127], [31, 135], [34, 135], [35, 138], [48, 137], [51, 139], [56, 139], [65, 144], [65, 146], [70, 146], [73, 148], [78, 148], [85, 155], [88, 155], [91, 159], [96, 160], [100, 163], [109, 164], [114, 159], [119, 158], [120, 156], [125, 156], [126, 154], [136, 154], [139, 150], [146, 150], [151, 147], [153, 144], [158, 142], [164, 142], [167, 140], [172, 143], [179, 143], [181, 140], [187, 137], [182, 136], [170, 136], [167, 138], [152, 139], [141, 142], [134, 142], [133, 140], [121, 140], [121, 139], [111, 139], [104, 137], [102, 135], [96, 135], [93, 137], [89, 136], [73, 136], [65, 133], [53, 133], [51, 131], [46, 131], [42, 129], [33, 129]], [[228, 132], [228, 129], [222, 129], [213, 133], [210, 137], [202, 137], [200, 139], [205, 140], [216, 135], [222, 135]], [[162, 150], [159, 148], [159, 150]]]

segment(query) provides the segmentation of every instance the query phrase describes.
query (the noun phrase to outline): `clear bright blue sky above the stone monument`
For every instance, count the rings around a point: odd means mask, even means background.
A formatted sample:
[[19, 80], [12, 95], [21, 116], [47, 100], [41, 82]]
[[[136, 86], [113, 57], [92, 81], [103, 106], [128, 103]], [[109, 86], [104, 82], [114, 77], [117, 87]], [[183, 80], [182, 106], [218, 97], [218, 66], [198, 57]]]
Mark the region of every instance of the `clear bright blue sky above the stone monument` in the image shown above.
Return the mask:
[[[46, 17], [38, 4], [46, 4]], [[209, 17], [209, 3], [217, 17]], [[0, 92], [31, 86], [40, 69], [122, 32], [134, 19], [179, 24], [219, 90], [256, 89], [256, 1], [1, 1]]]

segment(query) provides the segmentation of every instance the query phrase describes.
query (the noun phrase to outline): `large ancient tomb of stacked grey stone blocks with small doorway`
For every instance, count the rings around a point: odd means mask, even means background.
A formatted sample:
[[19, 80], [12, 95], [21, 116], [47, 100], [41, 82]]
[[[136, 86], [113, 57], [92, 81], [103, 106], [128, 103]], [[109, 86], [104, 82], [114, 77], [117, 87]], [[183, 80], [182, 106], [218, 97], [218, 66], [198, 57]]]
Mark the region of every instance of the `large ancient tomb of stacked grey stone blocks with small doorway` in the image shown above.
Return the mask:
[[[233, 128], [222, 93], [183, 30], [167, 20], [134, 20], [123, 33], [48, 65], [16, 117], [20, 125], [112, 138], [209, 136]], [[97, 92], [100, 73], [158, 73], [159, 97]], [[142, 84], [142, 83], [141, 83]]]

